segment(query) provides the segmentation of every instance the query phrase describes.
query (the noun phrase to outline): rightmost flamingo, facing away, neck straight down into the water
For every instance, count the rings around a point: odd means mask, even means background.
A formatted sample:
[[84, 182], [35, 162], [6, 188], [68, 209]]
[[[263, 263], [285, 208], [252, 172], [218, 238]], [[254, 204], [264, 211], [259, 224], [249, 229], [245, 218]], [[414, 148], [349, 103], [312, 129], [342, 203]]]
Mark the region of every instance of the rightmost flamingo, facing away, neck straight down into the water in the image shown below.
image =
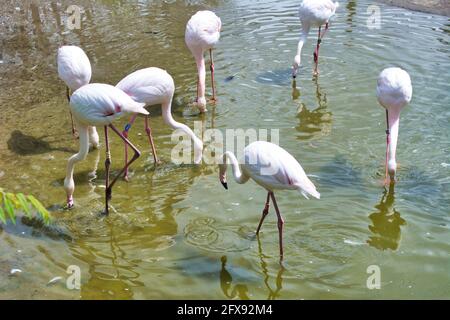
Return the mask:
[[388, 174], [391, 183], [395, 182], [397, 161], [398, 129], [400, 122], [400, 111], [405, 107], [412, 97], [412, 85], [409, 74], [400, 68], [384, 69], [378, 76], [377, 98], [378, 102], [386, 109], [386, 174], [385, 185]]

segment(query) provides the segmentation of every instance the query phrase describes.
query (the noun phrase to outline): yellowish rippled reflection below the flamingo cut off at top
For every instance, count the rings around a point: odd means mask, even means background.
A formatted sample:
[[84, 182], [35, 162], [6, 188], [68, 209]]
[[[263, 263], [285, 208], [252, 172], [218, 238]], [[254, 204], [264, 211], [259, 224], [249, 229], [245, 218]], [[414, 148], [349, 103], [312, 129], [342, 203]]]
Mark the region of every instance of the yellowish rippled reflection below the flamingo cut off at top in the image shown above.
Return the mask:
[[[297, 135], [299, 140], [311, 139], [318, 134], [328, 135], [331, 132], [333, 114], [327, 110], [327, 94], [320, 88], [317, 79], [314, 79], [313, 82], [316, 86], [317, 107], [308, 109], [304, 102], [300, 102], [297, 114], [299, 124], [295, 127], [299, 132]], [[295, 81], [293, 82], [292, 96], [294, 100], [300, 96]]]

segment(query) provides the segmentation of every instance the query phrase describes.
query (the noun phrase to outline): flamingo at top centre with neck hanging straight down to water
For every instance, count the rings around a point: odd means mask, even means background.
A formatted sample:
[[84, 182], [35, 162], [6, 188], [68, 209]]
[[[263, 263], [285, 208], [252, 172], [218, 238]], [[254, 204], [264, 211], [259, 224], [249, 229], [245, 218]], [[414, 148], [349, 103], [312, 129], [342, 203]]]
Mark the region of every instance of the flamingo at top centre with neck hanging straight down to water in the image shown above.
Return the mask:
[[212, 49], [219, 41], [220, 29], [222, 22], [218, 16], [212, 11], [198, 11], [189, 19], [186, 25], [185, 42], [197, 63], [198, 78], [197, 78], [197, 107], [200, 112], [206, 111], [205, 98], [205, 57], [204, 52], [209, 50], [211, 59], [211, 85], [212, 85], [212, 100], [216, 101], [216, 89], [214, 86], [214, 60]]

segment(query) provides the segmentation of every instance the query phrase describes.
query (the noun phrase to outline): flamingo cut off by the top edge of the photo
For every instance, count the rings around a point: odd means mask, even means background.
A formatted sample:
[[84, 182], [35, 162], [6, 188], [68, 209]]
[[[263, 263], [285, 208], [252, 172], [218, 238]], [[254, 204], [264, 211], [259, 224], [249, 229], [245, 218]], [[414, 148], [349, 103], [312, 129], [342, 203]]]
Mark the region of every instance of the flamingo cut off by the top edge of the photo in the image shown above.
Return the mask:
[[[335, 14], [336, 9], [339, 7], [338, 2], [332, 2], [331, 0], [303, 0], [299, 8], [300, 21], [302, 23], [302, 34], [298, 41], [297, 55], [294, 58], [294, 65], [292, 71], [292, 77], [297, 76], [297, 71], [300, 66], [301, 53], [303, 44], [306, 42], [306, 38], [309, 34], [311, 27], [319, 27], [319, 33], [317, 36], [317, 45], [314, 50], [314, 75], [319, 74], [317, 69], [319, 64], [319, 49], [322, 38], [328, 30], [328, 23], [330, 18]], [[325, 31], [322, 33], [322, 25], [325, 24]]]

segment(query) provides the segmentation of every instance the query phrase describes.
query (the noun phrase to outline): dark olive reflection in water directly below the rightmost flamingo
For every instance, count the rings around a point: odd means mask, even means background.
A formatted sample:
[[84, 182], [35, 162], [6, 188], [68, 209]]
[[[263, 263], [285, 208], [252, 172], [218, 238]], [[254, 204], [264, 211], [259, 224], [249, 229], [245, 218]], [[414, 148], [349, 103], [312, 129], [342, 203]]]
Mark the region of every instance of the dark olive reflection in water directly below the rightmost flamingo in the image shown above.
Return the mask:
[[379, 250], [397, 250], [400, 245], [400, 227], [406, 225], [406, 221], [395, 210], [394, 202], [394, 184], [391, 184], [389, 190], [384, 190], [380, 203], [375, 206], [377, 211], [369, 215], [372, 221], [369, 230], [372, 235], [367, 243]]

